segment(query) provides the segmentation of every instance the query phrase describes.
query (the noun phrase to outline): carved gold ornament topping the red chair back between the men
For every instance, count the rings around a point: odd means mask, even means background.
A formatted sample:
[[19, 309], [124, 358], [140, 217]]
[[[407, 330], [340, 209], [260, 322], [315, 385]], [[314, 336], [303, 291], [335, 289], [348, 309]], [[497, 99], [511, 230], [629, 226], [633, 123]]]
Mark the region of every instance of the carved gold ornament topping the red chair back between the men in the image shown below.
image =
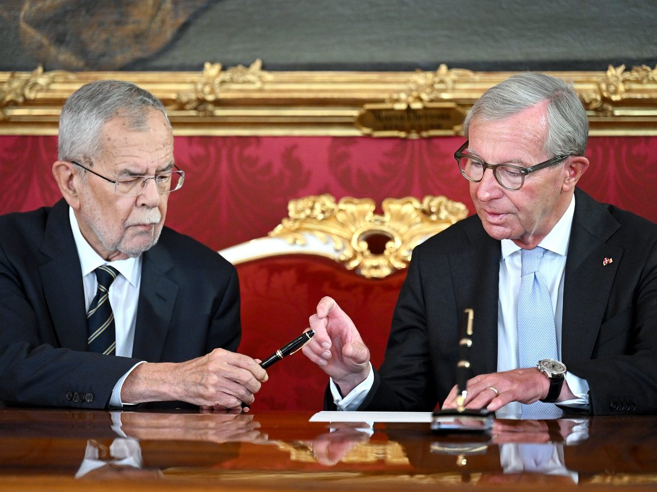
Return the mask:
[[[338, 261], [367, 278], [384, 278], [408, 266], [413, 248], [468, 215], [463, 203], [444, 196], [386, 198], [382, 214], [370, 198], [309, 195], [288, 203], [284, 218], [271, 237], [305, 245], [304, 234], [323, 243], [332, 241]], [[369, 240], [382, 239], [382, 251], [371, 251]]]

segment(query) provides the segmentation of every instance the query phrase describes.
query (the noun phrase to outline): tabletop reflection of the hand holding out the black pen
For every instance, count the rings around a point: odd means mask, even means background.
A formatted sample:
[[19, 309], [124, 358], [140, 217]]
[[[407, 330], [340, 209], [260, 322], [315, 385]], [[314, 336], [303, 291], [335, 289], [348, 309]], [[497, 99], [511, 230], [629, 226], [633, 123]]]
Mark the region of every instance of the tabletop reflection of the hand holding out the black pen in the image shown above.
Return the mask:
[[260, 422], [238, 413], [141, 413], [123, 412], [122, 430], [139, 440], [223, 442], [265, 441]]

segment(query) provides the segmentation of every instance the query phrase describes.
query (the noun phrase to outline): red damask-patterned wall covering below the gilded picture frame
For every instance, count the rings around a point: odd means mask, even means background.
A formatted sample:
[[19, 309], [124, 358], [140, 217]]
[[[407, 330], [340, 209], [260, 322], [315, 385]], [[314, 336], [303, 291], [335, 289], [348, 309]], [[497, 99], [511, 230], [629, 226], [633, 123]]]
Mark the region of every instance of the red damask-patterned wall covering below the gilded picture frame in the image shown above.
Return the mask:
[[[468, 186], [453, 151], [461, 137], [175, 138], [185, 187], [171, 195], [167, 223], [212, 249], [265, 236], [287, 215], [290, 198], [330, 193], [371, 197], [443, 194], [463, 201]], [[54, 136], [0, 136], [0, 214], [52, 205]], [[581, 188], [657, 222], [657, 137], [595, 137]]]

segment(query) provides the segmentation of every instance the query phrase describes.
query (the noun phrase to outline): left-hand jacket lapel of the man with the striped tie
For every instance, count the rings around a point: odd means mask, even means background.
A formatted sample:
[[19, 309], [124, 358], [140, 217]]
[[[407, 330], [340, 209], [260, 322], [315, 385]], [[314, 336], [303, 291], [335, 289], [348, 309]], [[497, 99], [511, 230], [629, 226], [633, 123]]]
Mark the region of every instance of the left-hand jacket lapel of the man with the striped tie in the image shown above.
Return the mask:
[[63, 199], [48, 216], [41, 253], [48, 258], [39, 265], [41, 285], [60, 346], [85, 351], [87, 331], [80, 329], [87, 326], [81, 266]]

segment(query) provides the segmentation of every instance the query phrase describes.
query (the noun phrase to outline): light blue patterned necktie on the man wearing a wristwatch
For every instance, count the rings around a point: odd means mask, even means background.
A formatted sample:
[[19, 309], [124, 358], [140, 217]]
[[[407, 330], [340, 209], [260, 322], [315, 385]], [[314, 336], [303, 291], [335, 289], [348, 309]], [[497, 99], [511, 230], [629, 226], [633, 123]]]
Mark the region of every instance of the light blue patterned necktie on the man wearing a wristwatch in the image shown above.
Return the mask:
[[[555, 312], [545, 279], [538, 266], [545, 249], [521, 249], [522, 271], [518, 293], [518, 363], [535, 367], [541, 359], [558, 360]], [[563, 412], [554, 403], [536, 401], [522, 405], [522, 418], [555, 419]]]

